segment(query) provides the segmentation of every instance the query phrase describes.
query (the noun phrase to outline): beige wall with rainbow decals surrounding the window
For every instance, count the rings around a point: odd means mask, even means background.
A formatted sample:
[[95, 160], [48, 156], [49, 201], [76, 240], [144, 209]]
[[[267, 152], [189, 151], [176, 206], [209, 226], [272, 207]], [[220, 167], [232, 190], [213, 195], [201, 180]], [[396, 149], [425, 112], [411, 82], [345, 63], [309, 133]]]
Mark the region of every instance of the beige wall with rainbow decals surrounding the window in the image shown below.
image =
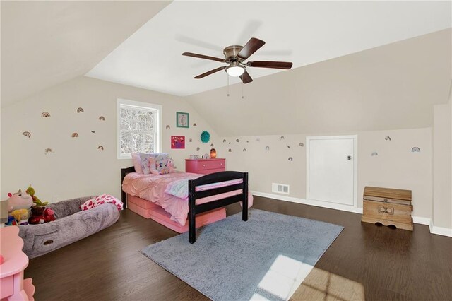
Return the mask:
[[[184, 159], [189, 154], [208, 153], [210, 143], [215, 143], [215, 132], [182, 98], [75, 78], [2, 108], [1, 199], [29, 184], [42, 201], [91, 194], [120, 196], [120, 169], [132, 164], [131, 160], [117, 159], [117, 98], [162, 105], [162, 151], [172, 155], [179, 170], [185, 169]], [[84, 112], [77, 113], [78, 107]], [[176, 127], [177, 111], [190, 114], [189, 129]], [[49, 112], [51, 117], [41, 117], [42, 112]], [[100, 115], [105, 122], [98, 119]], [[167, 125], [171, 129], [166, 129]], [[203, 130], [210, 132], [209, 143], [201, 143]], [[29, 131], [31, 137], [23, 136], [23, 131]], [[79, 137], [72, 138], [73, 132]], [[171, 135], [186, 136], [185, 150], [170, 148]], [[100, 145], [104, 151], [97, 149]], [[46, 148], [54, 153], [45, 155]]]

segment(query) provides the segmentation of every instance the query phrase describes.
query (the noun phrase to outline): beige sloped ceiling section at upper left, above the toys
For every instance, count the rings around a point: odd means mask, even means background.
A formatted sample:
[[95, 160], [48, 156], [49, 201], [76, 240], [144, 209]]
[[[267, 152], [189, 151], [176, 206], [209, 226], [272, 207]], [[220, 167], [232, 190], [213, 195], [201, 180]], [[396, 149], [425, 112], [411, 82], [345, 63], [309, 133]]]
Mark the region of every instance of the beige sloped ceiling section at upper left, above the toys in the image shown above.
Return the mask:
[[83, 76], [168, 1], [1, 1], [1, 105]]

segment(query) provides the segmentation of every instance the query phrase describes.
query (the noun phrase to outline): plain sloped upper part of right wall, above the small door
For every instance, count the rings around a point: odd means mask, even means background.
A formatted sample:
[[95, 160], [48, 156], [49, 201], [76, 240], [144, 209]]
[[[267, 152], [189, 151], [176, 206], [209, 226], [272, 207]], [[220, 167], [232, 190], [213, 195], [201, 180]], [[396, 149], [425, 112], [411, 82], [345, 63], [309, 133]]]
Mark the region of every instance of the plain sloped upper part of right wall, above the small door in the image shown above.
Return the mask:
[[432, 105], [448, 98], [451, 33], [441, 30], [231, 85], [230, 97], [219, 88], [187, 101], [220, 136], [432, 126]]

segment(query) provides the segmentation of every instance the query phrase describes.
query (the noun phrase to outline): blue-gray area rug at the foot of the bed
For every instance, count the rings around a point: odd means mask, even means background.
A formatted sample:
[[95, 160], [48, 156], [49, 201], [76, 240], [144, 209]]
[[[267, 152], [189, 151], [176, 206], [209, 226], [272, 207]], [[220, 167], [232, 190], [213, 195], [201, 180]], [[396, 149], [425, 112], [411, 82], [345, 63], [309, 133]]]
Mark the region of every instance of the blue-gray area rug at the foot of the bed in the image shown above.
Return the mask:
[[212, 300], [284, 300], [278, 289], [285, 284], [278, 281], [293, 281], [289, 270], [297, 265], [314, 266], [342, 230], [339, 225], [251, 209], [246, 222], [238, 213], [198, 228], [194, 244], [186, 232], [141, 252]]

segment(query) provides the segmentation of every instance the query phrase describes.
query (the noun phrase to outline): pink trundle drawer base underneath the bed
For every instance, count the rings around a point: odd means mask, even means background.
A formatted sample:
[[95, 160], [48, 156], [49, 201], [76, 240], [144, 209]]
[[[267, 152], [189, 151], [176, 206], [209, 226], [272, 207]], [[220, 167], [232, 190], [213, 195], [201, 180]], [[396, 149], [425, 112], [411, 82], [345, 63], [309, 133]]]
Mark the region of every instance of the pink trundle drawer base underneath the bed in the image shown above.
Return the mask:
[[[131, 196], [127, 194], [127, 208], [131, 211], [143, 216], [143, 218], [151, 218], [157, 223], [164, 225], [165, 227], [174, 230], [178, 233], [187, 232], [189, 230], [189, 223], [185, 223], [184, 226], [170, 219], [169, 213], [160, 206], [155, 205], [150, 201], [143, 200], [138, 196]], [[196, 228], [210, 223], [215, 223], [218, 220], [226, 218], [226, 209], [218, 208], [205, 213], [196, 215]]]

